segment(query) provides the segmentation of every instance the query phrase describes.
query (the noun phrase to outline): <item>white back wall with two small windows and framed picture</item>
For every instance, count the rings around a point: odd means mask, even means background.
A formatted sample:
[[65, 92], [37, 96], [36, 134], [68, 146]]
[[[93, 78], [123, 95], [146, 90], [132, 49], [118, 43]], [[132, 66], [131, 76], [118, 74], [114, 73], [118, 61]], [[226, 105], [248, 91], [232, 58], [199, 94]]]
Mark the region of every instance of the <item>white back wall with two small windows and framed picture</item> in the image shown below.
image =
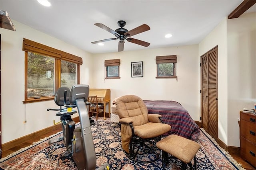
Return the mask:
[[[125, 48], [125, 47], [124, 47]], [[177, 55], [178, 78], [156, 78], [156, 56]], [[144, 100], [174, 100], [200, 119], [198, 45], [93, 55], [92, 88], [110, 88], [111, 100], [134, 94]], [[120, 79], [106, 79], [104, 61], [120, 59]], [[143, 61], [143, 77], [131, 77], [131, 62]]]

